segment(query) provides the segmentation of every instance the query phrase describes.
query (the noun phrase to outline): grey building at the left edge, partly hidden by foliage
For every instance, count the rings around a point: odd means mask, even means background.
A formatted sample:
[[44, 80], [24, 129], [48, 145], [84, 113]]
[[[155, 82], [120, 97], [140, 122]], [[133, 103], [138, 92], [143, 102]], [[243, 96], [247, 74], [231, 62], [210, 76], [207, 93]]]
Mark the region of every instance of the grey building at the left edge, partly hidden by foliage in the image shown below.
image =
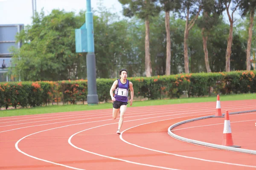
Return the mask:
[[0, 82], [14, 81], [9, 77], [8, 70], [12, 65], [12, 54], [9, 48], [20, 48], [22, 43], [15, 40], [15, 36], [24, 28], [23, 24], [0, 25]]

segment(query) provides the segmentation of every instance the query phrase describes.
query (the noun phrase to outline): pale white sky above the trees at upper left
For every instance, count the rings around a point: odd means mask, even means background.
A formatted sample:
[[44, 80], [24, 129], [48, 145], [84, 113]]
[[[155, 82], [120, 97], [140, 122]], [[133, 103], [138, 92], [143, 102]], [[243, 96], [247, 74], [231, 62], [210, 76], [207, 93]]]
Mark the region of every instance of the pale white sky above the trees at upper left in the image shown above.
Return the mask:
[[[122, 14], [122, 5], [118, 0], [91, 0], [91, 8], [96, 9], [100, 1], [113, 12]], [[45, 14], [51, 13], [52, 9], [78, 13], [86, 9], [86, 0], [36, 0], [36, 8], [38, 12], [44, 8]], [[32, 15], [32, 0], [0, 0], [0, 25], [31, 24]]]

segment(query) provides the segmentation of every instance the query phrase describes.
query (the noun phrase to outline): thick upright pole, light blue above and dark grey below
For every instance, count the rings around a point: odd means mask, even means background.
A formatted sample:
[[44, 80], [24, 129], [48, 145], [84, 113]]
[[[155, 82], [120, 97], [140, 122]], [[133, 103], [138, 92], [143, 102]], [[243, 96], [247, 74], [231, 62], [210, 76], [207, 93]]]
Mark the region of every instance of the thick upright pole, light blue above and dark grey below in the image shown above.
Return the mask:
[[96, 60], [94, 54], [93, 39], [93, 13], [91, 12], [91, 1], [86, 0], [85, 24], [87, 28], [87, 103], [88, 105], [97, 105], [99, 103], [96, 86]]

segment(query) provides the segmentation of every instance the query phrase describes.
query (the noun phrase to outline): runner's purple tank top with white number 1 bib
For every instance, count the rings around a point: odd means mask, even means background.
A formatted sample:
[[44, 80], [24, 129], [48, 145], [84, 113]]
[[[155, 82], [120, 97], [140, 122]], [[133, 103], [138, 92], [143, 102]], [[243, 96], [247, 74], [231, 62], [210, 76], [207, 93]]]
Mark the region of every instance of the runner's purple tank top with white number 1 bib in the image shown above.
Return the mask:
[[120, 79], [117, 79], [117, 85], [115, 89], [115, 98], [116, 101], [119, 102], [128, 102], [127, 96], [128, 96], [128, 91], [129, 91], [129, 80], [126, 79], [126, 83], [122, 84]]

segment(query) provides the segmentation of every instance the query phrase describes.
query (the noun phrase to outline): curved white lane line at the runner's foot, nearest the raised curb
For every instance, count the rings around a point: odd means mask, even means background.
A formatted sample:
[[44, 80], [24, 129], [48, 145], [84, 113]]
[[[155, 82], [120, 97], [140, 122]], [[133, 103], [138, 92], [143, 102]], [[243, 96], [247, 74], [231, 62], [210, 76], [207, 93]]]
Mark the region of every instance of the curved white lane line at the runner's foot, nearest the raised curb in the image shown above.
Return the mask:
[[[165, 120], [168, 120], [168, 119], [165, 119]], [[136, 125], [134, 127], [138, 127], [138, 126], [141, 126], [141, 125], [146, 125], [146, 124], [150, 124], [150, 123], [155, 123], [155, 122], [161, 122], [161, 121], [165, 121], [165, 120], [160, 120], [160, 121], [154, 121], [154, 122], [148, 122], [148, 123], [143, 123], [143, 124], [140, 124], [140, 125]], [[183, 156], [183, 155], [178, 155], [178, 154], [175, 154], [175, 153], [169, 153], [169, 152], [163, 152], [163, 151], [160, 151], [160, 150], [154, 150], [154, 149], [150, 149], [150, 148], [147, 148], [147, 147], [142, 147], [142, 146], [139, 146], [137, 144], [132, 144], [128, 141], [126, 141], [125, 139], [122, 138], [122, 134], [129, 130], [129, 129], [132, 129], [134, 127], [130, 127], [128, 129], [125, 129], [121, 132], [121, 134], [119, 135], [119, 138], [127, 143], [127, 144], [131, 144], [135, 147], [140, 147], [142, 149], [146, 149], [146, 150], [151, 150], [151, 151], [154, 151], [154, 152], [158, 152], [158, 153], [165, 153], [165, 154], [168, 154], [168, 155], [173, 155], [173, 156], [179, 156], [179, 157], [183, 157], [183, 158], [188, 158], [188, 159], [195, 159], [195, 160], [200, 160], [200, 161], [208, 161], [208, 162], [214, 162], [214, 163], [221, 163], [221, 164], [230, 164], [230, 165], [236, 165], [236, 166], [242, 166], [242, 167], [256, 167], [256, 166], [253, 166], [253, 165], [245, 165], [245, 164], [233, 164], [233, 163], [229, 163], [229, 162], [224, 162], [224, 161], [212, 161], [212, 160], [208, 160], [208, 159], [201, 159], [201, 158], [195, 158], [195, 157], [191, 157], [191, 156]]]

